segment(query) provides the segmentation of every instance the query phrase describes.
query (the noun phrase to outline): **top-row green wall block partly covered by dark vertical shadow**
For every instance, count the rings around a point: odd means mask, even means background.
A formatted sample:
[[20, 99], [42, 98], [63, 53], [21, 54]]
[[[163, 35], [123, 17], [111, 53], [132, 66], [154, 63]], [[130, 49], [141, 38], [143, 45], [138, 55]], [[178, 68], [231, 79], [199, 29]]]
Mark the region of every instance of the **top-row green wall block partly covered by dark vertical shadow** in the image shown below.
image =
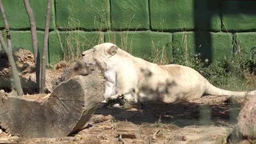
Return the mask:
[[149, 0], [152, 30], [221, 30], [221, 0]]

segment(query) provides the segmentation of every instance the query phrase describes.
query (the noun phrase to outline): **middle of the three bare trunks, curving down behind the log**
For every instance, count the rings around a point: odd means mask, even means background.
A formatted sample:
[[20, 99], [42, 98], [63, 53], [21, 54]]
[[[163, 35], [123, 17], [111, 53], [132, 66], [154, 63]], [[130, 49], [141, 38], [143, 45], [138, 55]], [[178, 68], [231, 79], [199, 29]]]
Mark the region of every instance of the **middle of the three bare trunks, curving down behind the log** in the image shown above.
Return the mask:
[[34, 51], [34, 58], [35, 58], [35, 75], [36, 75], [36, 82], [37, 82], [37, 92], [40, 92], [40, 53], [38, 51], [38, 41], [37, 41], [37, 27], [35, 23], [34, 13], [32, 8], [29, 5], [29, 0], [23, 0], [27, 15], [29, 17], [29, 24], [30, 24], [30, 31], [32, 37], [32, 45]]

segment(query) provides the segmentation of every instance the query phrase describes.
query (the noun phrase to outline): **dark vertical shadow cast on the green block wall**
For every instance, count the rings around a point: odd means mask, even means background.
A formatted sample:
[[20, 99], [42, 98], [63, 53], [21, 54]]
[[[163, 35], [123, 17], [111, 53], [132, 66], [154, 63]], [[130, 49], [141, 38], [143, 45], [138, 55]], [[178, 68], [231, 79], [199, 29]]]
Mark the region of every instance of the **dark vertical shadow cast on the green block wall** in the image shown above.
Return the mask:
[[[219, 11], [215, 10], [219, 6]], [[202, 59], [213, 60], [212, 16], [220, 16], [221, 0], [194, 0], [195, 52], [202, 54]], [[216, 13], [217, 12], [217, 13]], [[220, 20], [220, 19], [219, 19]], [[221, 21], [219, 21], [221, 23]]]

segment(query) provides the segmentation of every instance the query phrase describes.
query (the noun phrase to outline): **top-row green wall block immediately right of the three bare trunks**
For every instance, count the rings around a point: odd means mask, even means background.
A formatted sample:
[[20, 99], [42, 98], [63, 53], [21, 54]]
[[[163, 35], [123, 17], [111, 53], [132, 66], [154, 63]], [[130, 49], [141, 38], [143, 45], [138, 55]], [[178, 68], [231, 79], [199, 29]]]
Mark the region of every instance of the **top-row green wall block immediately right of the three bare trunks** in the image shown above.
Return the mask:
[[110, 28], [109, 0], [55, 0], [57, 26], [88, 31]]

